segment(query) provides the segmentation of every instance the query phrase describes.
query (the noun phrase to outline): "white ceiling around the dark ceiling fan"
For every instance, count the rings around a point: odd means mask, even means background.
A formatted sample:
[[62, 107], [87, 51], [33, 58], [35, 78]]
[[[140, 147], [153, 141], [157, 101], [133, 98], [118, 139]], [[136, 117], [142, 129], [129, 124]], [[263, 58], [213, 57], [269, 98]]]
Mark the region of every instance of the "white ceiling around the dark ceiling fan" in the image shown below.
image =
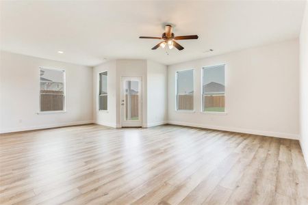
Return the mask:
[[[87, 66], [175, 64], [297, 38], [304, 8], [305, 1], [1, 1], [1, 50]], [[166, 23], [176, 36], [199, 39], [178, 41], [183, 51], [152, 51], [159, 40], [138, 38], [161, 36]]]

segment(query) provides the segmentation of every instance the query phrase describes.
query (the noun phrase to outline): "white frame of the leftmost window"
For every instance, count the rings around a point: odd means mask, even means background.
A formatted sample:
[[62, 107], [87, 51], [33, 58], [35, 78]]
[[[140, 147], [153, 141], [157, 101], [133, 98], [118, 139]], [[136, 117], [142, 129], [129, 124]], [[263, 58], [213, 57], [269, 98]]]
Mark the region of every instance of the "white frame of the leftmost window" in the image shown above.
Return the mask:
[[[57, 70], [63, 72], [63, 110], [57, 110], [57, 111], [42, 111], [40, 107], [40, 100], [41, 100], [41, 94], [40, 94], [40, 70], [41, 69], [46, 69], [46, 70]], [[49, 68], [49, 67], [44, 67], [44, 66], [39, 66], [38, 67], [38, 98], [39, 98], [39, 111], [38, 114], [49, 114], [49, 113], [66, 113], [66, 70], [62, 68]]]

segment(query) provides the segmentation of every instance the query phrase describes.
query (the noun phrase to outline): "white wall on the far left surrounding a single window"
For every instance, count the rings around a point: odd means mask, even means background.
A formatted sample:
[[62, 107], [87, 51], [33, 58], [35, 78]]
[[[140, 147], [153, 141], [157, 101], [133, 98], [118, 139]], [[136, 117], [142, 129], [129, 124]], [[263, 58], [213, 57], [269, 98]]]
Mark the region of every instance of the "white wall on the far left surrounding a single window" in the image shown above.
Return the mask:
[[[38, 114], [39, 67], [66, 71], [66, 112]], [[92, 68], [1, 51], [0, 132], [92, 122]]]

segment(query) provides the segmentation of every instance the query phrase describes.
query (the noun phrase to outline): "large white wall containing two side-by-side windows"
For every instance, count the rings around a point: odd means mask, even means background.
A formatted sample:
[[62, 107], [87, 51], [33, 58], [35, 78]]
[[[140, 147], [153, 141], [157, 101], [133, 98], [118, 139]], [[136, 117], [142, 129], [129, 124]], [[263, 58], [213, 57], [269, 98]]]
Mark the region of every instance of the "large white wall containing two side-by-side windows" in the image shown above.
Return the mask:
[[[201, 68], [226, 64], [226, 115], [201, 113]], [[175, 111], [175, 72], [194, 68], [194, 112]], [[298, 139], [298, 40], [168, 66], [168, 121]]]

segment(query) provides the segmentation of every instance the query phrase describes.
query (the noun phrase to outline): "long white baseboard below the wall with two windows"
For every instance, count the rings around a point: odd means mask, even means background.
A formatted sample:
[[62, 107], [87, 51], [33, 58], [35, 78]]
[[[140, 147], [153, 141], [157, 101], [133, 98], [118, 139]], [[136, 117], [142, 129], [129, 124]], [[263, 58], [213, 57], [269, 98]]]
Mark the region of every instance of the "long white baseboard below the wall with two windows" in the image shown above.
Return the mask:
[[168, 124], [177, 124], [182, 126], [193, 126], [198, 128], [208, 128], [213, 130], [219, 131], [229, 131], [235, 133], [247, 133], [253, 135], [264, 135], [268, 137], [280, 137], [285, 139], [299, 139], [299, 136], [292, 133], [278, 133], [278, 132], [271, 132], [271, 131], [255, 131], [245, 128], [233, 128], [233, 127], [224, 127], [224, 126], [213, 126], [213, 125], [205, 125], [205, 124], [194, 124], [190, 122], [178, 122], [178, 121], [168, 121]]

